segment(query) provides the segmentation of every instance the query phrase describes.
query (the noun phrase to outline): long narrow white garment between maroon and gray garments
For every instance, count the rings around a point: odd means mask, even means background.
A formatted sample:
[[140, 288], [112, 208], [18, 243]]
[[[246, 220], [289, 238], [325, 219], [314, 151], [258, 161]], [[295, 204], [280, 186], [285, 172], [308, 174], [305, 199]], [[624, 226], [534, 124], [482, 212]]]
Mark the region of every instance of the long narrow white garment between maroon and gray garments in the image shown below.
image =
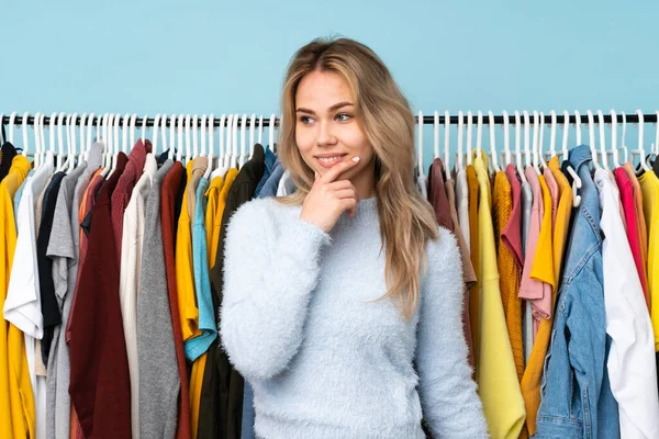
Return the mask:
[[119, 299], [126, 339], [129, 371], [131, 374], [131, 428], [133, 438], [139, 438], [139, 382], [137, 364], [137, 291], [139, 290], [139, 269], [142, 262], [142, 243], [144, 238], [144, 216], [146, 195], [150, 189], [154, 173], [158, 168], [153, 154], [146, 155], [144, 172], [131, 193], [131, 201], [124, 211], [123, 234], [121, 240], [121, 271]]

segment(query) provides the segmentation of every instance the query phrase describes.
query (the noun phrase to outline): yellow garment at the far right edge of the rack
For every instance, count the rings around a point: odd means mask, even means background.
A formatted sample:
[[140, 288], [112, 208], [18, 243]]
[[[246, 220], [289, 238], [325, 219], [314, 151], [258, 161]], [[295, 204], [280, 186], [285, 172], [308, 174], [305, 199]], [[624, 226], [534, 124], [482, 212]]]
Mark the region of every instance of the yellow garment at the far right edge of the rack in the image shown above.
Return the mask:
[[650, 318], [655, 330], [655, 351], [659, 351], [659, 178], [649, 170], [638, 178], [638, 183], [643, 192], [643, 214], [648, 230]]

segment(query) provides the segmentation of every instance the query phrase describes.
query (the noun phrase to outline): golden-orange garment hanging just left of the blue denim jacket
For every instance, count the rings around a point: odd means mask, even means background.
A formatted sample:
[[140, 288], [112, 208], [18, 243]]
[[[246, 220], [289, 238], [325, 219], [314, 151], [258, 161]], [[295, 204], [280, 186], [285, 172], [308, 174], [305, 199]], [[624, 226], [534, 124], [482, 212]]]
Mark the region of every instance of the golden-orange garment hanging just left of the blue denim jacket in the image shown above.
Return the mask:
[[[560, 279], [560, 267], [562, 263], [563, 249], [568, 237], [568, 227], [570, 226], [570, 214], [572, 213], [572, 188], [568, 182], [568, 179], [560, 170], [558, 157], [552, 157], [549, 161], [549, 169], [551, 175], [558, 183], [559, 201], [558, 210], [556, 212], [556, 223], [554, 226], [552, 235], [552, 262], [554, 262], [554, 274], [552, 283], [558, 285]], [[545, 206], [545, 213], [547, 207]], [[543, 222], [544, 223], [544, 222]], [[540, 229], [540, 233], [543, 230]], [[539, 248], [539, 241], [538, 241]], [[536, 249], [536, 258], [538, 257], [538, 250]], [[536, 269], [535, 262], [533, 269]], [[540, 271], [544, 273], [544, 271]], [[532, 270], [532, 273], [534, 271]], [[546, 274], [543, 274], [543, 281], [546, 280]], [[551, 308], [554, 309], [556, 304], [556, 289], [551, 292]], [[545, 356], [549, 348], [549, 340], [551, 339], [551, 325], [554, 324], [554, 313], [548, 319], [540, 320], [540, 327], [536, 334], [533, 350], [530, 351], [530, 358], [526, 364], [524, 376], [522, 378], [522, 394], [524, 396], [524, 403], [526, 405], [526, 426], [528, 427], [528, 434], [536, 434], [536, 418], [538, 408], [540, 406], [540, 384], [543, 382], [543, 367], [545, 362]]]

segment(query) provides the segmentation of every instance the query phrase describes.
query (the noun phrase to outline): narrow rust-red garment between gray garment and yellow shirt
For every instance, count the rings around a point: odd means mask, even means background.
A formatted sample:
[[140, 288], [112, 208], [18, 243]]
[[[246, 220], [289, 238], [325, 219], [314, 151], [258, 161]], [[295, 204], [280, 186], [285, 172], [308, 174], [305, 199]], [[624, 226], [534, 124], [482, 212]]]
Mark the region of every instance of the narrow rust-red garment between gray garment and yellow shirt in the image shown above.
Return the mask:
[[[179, 397], [177, 439], [189, 439], [191, 437], [190, 424], [190, 396], [188, 371], [186, 369], [186, 353], [183, 351], [183, 335], [178, 308], [178, 291], [176, 289], [176, 263], [174, 260], [175, 243], [175, 211], [180, 182], [186, 175], [183, 166], [177, 161], [163, 180], [160, 189], [160, 222], [163, 224], [163, 249], [165, 251], [165, 270], [167, 273], [167, 292], [169, 295], [169, 309], [174, 328], [174, 342], [176, 345], [176, 359], [178, 362], [181, 389]], [[180, 200], [179, 200], [180, 202]], [[210, 365], [209, 365], [210, 367]]]

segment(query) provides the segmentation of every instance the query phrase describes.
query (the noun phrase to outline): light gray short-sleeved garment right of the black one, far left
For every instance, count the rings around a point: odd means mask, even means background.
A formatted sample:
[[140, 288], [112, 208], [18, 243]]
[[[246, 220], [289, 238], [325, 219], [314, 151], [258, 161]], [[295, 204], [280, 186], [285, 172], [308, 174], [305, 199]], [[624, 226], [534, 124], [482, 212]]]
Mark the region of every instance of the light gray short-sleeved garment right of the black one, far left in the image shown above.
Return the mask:
[[[80, 252], [80, 224], [78, 210], [82, 193], [89, 184], [92, 173], [101, 166], [103, 144], [94, 143], [89, 151], [89, 159], [81, 164], [70, 176], [75, 181], [72, 196], [68, 187], [67, 193], [59, 191], [55, 206], [55, 221], [51, 232], [47, 255], [53, 259], [53, 281], [55, 293], [62, 311], [62, 325], [55, 328], [51, 357], [48, 358], [48, 376], [46, 380], [46, 437], [48, 439], [68, 439], [70, 429], [71, 401], [68, 393], [70, 382], [69, 350], [66, 344], [66, 325], [71, 309], [76, 279], [78, 277], [78, 257]], [[80, 170], [78, 172], [78, 170]], [[77, 178], [74, 176], [77, 173]], [[70, 181], [70, 180], [69, 180]], [[60, 203], [60, 199], [66, 203]], [[70, 199], [70, 201], [68, 201]], [[67, 232], [68, 230], [68, 232]], [[63, 330], [64, 328], [64, 330]]]

